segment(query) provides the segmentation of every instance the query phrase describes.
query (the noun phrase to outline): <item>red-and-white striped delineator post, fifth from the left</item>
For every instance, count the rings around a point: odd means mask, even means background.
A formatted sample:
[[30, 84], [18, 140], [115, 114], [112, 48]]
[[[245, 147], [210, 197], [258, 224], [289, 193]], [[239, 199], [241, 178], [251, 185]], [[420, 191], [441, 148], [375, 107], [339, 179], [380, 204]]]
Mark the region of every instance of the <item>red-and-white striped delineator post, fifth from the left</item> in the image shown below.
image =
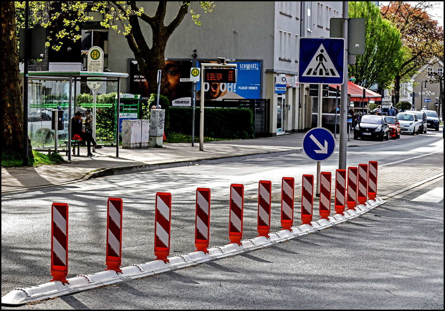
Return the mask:
[[238, 245], [242, 245], [243, 238], [243, 206], [244, 185], [232, 183], [230, 185], [229, 239], [231, 243]]

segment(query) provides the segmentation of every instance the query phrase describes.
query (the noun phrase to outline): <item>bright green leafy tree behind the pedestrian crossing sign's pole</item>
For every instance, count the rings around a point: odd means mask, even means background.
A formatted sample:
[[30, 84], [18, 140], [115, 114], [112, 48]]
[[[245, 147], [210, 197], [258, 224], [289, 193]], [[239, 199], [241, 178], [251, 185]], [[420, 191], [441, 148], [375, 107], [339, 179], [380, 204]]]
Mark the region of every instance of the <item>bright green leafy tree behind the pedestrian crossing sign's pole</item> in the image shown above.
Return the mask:
[[400, 31], [380, 15], [372, 2], [350, 2], [348, 16], [365, 19], [365, 54], [356, 56], [356, 64], [348, 71], [356, 78], [356, 84], [369, 88], [378, 83], [379, 88], [388, 88], [403, 57]]

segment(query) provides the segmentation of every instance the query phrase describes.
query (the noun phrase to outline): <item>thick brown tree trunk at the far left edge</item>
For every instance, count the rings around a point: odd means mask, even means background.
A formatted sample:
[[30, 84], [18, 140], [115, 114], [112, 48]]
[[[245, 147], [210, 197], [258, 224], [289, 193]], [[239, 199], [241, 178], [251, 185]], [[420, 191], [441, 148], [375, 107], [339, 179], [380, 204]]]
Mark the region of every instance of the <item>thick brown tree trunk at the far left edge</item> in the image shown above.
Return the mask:
[[23, 105], [15, 12], [13, 1], [2, 1], [1, 148], [2, 152], [21, 155], [23, 153]]

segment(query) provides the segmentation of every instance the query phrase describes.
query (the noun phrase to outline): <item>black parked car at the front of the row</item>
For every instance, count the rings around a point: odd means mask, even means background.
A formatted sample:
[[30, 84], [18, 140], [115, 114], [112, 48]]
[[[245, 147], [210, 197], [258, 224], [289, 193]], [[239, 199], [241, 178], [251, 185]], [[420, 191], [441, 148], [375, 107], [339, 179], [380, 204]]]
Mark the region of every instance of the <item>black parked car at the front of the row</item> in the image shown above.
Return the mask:
[[364, 115], [354, 128], [354, 139], [389, 140], [389, 126], [384, 116]]

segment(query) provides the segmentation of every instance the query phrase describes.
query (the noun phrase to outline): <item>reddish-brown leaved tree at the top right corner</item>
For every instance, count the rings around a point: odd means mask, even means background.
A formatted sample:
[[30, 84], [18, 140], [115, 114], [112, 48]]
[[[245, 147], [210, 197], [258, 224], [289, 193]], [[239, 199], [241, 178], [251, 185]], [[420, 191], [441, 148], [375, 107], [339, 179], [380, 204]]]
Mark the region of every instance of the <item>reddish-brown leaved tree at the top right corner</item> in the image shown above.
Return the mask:
[[443, 28], [426, 12], [433, 5], [425, 1], [411, 4], [391, 1], [380, 9], [383, 18], [390, 20], [400, 30], [405, 48], [403, 61], [397, 68], [394, 79], [395, 104], [399, 102], [401, 82], [408, 80], [434, 56], [443, 56]]

